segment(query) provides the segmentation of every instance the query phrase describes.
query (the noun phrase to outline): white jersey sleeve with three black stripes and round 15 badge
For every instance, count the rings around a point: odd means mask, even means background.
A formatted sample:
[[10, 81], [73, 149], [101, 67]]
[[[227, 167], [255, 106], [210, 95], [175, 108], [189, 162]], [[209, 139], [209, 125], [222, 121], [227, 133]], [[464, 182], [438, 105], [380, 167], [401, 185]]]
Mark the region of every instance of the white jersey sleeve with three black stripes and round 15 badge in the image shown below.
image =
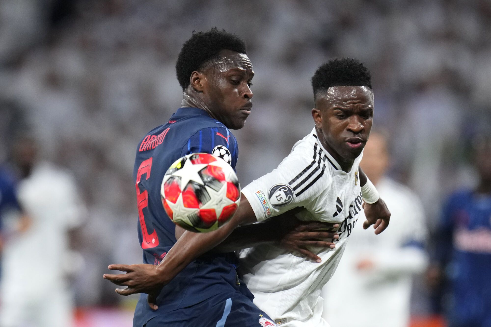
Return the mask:
[[296, 207], [315, 213], [330, 187], [326, 157], [317, 144], [299, 144], [272, 172], [247, 185], [242, 193], [258, 221]]

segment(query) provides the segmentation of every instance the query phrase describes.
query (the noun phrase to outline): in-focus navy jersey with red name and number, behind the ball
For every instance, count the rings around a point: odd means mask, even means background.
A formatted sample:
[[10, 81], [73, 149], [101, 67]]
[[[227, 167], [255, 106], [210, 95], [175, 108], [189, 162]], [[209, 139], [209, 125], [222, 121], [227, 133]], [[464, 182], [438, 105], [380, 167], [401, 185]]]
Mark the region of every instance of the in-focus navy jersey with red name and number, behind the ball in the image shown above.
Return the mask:
[[[232, 133], [203, 109], [180, 108], [170, 120], [151, 130], [138, 143], [134, 181], [138, 205], [138, 240], [143, 262], [158, 264], [176, 243], [175, 224], [164, 211], [161, 184], [166, 170], [190, 153], [225, 150], [235, 170], [239, 150]], [[214, 151], [215, 150], [215, 151]], [[143, 294], [135, 319], [146, 321], [163, 312], [183, 308], [214, 295], [235, 292], [238, 285], [235, 254], [205, 254], [193, 261], [164, 287], [153, 311]]]

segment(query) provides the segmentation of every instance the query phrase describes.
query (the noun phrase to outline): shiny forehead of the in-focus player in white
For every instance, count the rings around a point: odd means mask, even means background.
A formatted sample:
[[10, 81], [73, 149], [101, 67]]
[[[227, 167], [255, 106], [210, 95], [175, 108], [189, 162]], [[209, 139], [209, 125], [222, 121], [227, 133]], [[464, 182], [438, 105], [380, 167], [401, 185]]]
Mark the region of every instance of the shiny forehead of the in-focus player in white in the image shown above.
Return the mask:
[[331, 86], [316, 95], [322, 107], [363, 105], [373, 109], [373, 91], [368, 86]]

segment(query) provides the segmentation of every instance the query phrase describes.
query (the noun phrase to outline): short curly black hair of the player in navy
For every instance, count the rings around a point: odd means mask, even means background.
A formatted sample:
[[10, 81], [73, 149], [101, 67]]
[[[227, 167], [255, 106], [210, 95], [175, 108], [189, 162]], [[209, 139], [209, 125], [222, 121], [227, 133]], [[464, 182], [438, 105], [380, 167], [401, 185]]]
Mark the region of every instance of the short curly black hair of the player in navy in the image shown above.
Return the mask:
[[183, 90], [189, 86], [191, 73], [202, 68], [210, 60], [218, 58], [221, 50], [247, 54], [244, 40], [225, 29], [218, 30], [217, 27], [213, 27], [206, 32], [192, 33], [191, 38], [183, 44], [176, 62], [176, 76]]

